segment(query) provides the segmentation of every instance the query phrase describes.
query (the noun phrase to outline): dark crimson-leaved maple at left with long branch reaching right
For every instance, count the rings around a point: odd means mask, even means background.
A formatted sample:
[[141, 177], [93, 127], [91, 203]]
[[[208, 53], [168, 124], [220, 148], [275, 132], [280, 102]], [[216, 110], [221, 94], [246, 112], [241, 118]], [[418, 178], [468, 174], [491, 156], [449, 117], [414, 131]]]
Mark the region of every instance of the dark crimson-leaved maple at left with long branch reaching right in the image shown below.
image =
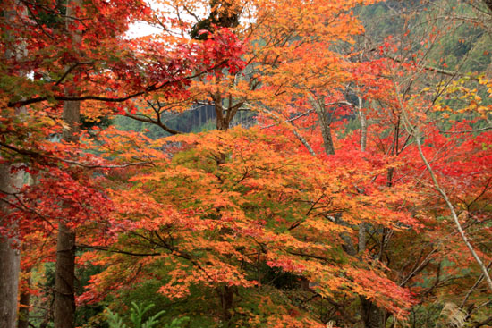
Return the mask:
[[[11, 207], [13, 213], [2, 220], [9, 227], [3, 231], [16, 238], [32, 231], [32, 226], [19, 229], [29, 222], [30, 214], [42, 218], [44, 224], [37, 228], [48, 228], [47, 234], [60, 224], [55, 326], [71, 327], [75, 231], [89, 213], [98, 213], [106, 203], [97, 188], [84, 186], [93, 174], [84, 168], [98, 168], [100, 161], [81, 154], [81, 114], [89, 118], [112, 114], [125, 106], [115, 104], [152, 92], [185, 94], [191, 78], [241, 65], [242, 45], [226, 30], [202, 43], [125, 39], [129, 24], [151, 13], [147, 4], [139, 2], [7, 1], [1, 10], [9, 13], [0, 21], [7, 31], [2, 50], [21, 53], [5, 55], [2, 65], [2, 84], [7, 86], [1, 94], [2, 161], [7, 171], [22, 163], [21, 171], [29, 171], [37, 181], [32, 189], [44, 190], [30, 194], [26, 189], [20, 196], [6, 182], [4, 209]], [[92, 103], [84, 105], [84, 101]], [[21, 107], [25, 111], [19, 115]], [[48, 140], [56, 134], [63, 136], [63, 145]], [[10, 277], [7, 285], [15, 286], [17, 279]], [[14, 294], [8, 293], [15, 298]], [[6, 306], [11, 314], [15, 314], [13, 302]]]

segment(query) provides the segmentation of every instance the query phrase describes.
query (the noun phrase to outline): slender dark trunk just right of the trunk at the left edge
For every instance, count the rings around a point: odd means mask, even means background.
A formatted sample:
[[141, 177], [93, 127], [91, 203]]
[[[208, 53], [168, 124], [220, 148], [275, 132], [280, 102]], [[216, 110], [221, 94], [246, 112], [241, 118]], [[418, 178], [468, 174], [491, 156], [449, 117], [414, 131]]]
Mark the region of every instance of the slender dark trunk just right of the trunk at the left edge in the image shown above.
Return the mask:
[[[76, 7], [81, 7], [81, 0], [67, 0], [66, 28], [72, 38], [72, 46], [77, 49], [81, 46], [81, 34], [72, 31], [69, 25], [77, 14]], [[76, 92], [68, 85], [65, 95], [74, 96]], [[81, 102], [65, 101], [64, 122], [68, 129], [64, 130], [63, 139], [68, 142], [79, 140], [79, 125], [81, 122]], [[75, 232], [66, 223], [58, 224], [58, 238], [56, 242], [55, 266], [55, 328], [72, 328], [75, 317]]]

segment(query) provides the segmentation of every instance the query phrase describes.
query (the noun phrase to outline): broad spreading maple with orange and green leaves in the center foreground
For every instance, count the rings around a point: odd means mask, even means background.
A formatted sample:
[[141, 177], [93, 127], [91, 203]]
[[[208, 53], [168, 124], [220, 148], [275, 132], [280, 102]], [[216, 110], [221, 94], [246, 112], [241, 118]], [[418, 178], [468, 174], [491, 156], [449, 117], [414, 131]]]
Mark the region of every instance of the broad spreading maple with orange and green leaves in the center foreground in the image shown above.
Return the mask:
[[[261, 273], [267, 265], [269, 270], [278, 268], [292, 275], [291, 283], [298, 289], [303, 283], [316, 285], [311, 291], [314, 296], [355, 292], [402, 315], [398, 311], [408, 306], [410, 296], [382, 272], [373, 272], [377, 268], [341, 257], [336, 245], [349, 228], [330, 218], [344, 213], [347, 221], [358, 222], [363, 215], [400, 229], [398, 225], [410, 223], [410, 217], [379, 210], [383, 202], [398, 202], [398, 197], [374, 190], [367, 199], [361, 198], [352, 193], [352, 180], [339, 180], [353, 174], [351, 168], [337, 172], [335, 165], [282, 150], [285, 141], [258, 132], [234, 129], [165, 139], [190, 145], [172, 159], [145, 151], [146, 156], [153, 154], [152, 166], [129, 172], [131, 191], [124, 175], [126, 187], [112, 191], [118, 204], [112, 220], [120, 233], [115, 231], [102, 245], [86, 245], [114, 254], [84, 255], [106, 270], [92, 278], [92, 288], [81, 300], [97, 301], [108, 291], [118, 292], [147, 279], [162, 280], [166, 283], [159, 292], [170, 298], [186, 297], [193, 286], [215, 290], [225, 324], [232, 319], [240, 325], [253, 320], [251, 324], [260, 320], [248, 310], [252, 305], [243, 308], [235, 299], [251, 292], [259, 293], [262, 302], [273, 298], [272, 293], [280, 297], [281, 286], [275, 291], [275, 284], [269, 285], [266, 273]], [[140, 141], [140, 147], [149, 142], [134, 138], [131, 143]], [[127, 147], [124, 139], [113, 139], [108, 145], [112, 152]], [[162, 142], [153, 140], [150, 145], [159, 147]], [[352, 178], [362, 183], [361, 176]], [[190, 189], [193, 194], [186, 192]], [[377, 209], [369, 204], [378, 204]], [[263, 288], [267, 294], [261, 296]], [[277, 306], [279, 323], [315, 324], [301, 315], [302, 307]], [[286, 315], [289, 311], [299, 315]], [[274, 319], [268, 318], [272, 324]]]

